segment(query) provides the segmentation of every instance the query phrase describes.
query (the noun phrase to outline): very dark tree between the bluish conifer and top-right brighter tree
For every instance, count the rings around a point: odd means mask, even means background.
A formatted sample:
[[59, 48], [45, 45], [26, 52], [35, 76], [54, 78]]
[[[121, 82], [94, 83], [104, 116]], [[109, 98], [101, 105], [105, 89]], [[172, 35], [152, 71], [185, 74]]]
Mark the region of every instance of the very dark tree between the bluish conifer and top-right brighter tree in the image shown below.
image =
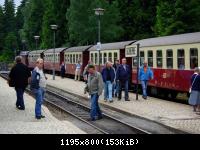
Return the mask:
[[122, 40], [142, 39], [154, 36], [153, 26], [157, 0], [117, 0], [122, 15]]

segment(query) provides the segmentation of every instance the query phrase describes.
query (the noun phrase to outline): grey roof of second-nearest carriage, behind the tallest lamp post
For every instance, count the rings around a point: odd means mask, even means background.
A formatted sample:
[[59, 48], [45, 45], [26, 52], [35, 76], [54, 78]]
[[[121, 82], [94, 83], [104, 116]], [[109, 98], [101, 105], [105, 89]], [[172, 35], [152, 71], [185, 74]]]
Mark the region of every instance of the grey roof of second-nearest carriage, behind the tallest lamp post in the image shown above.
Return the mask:
[[[105, 43], [101, 44], [101, 50], [119, 50], [124, 49], [127, 45], [134, 43], [133, 41], [115, 42], [115, 43]], [[92, 46], [89, 51], [96, 51], [96, 45]]]

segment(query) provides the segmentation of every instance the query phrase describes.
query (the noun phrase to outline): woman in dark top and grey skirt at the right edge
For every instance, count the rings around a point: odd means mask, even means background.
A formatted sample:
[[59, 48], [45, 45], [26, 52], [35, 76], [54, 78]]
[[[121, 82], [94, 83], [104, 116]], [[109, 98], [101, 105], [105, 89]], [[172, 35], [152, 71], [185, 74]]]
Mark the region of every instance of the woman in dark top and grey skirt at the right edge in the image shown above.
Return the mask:
[[189, 104], [193, 106], [193, 111], [197, 112], [200, 109], [200, 70], [198, 67], [194, 69], [194, 74], [191, 77], [191, 93]]

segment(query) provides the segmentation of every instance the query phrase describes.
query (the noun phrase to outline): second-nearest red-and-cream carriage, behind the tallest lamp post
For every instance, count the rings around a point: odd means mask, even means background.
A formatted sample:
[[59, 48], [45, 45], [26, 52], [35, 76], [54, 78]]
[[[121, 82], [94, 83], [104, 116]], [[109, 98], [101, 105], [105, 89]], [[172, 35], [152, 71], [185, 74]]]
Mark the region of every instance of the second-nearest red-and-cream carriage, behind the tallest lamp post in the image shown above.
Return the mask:
[[[100, 51], [100, 68], [102, 69], [106, 61], [114, 63], [116, 59], [120, 60], [125, 57], [125, 47], [134, 43], [135, 41], [125, 41], [116, 43], [106, 43], [101, 45]], [[89, 49], [90, 60], [96, 65], [98, 70], [99, 52], [96, 50], [96, 45]], [[131, 58], [127, 59], [127, 63], [131, 63]], [[100, 69], [100, 70], [101, 70]]]

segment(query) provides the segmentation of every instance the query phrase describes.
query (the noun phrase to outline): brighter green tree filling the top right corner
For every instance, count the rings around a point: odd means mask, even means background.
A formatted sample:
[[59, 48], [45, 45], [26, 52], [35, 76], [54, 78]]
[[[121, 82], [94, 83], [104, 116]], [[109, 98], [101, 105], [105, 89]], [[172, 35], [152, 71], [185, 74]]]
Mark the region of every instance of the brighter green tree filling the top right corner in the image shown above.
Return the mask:
[[159, 0], [155, 33], [158, 36], [200, 30], [200, 1]]

